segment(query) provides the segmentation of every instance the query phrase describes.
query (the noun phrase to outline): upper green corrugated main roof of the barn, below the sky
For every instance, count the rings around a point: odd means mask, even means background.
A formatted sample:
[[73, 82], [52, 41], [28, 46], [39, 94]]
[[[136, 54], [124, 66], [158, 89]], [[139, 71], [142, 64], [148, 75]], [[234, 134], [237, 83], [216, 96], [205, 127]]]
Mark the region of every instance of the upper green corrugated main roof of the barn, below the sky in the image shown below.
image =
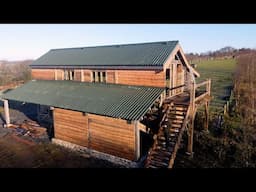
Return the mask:
[[162, 66], [178, 41], [52, 49], [30, 66]]

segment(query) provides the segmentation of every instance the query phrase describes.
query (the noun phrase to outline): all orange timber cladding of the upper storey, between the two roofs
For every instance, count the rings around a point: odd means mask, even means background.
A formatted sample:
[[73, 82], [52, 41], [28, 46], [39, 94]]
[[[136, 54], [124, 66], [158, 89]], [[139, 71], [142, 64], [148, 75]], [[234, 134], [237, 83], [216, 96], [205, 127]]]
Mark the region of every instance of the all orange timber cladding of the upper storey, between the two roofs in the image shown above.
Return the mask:
[[[75, 81], [92, 82], [93, 71], [87, 69], [75, 69]], [[106, 83], [116, 83], [135, 86], [165, 87], [164, 71], [154, 70], [99, 70], [100, 78], [104, 78]], [[57, 75], [57, 77], [55, 77]], [[83, 75], [83, 78], [82, 78]], [[61, 69], [32, 69], [32, 77], [39, 80], [63, 80], [64, 70]], [[98, 80], [96, 81], [98, 82]]]

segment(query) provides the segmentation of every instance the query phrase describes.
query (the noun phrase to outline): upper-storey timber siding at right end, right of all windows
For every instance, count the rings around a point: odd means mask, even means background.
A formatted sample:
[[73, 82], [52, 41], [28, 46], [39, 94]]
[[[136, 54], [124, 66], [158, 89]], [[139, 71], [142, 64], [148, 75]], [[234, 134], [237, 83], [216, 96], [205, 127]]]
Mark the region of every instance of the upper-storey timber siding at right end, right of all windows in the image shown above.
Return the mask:
[[118, 84], [165, 87], [164, 71], [117, 70]]

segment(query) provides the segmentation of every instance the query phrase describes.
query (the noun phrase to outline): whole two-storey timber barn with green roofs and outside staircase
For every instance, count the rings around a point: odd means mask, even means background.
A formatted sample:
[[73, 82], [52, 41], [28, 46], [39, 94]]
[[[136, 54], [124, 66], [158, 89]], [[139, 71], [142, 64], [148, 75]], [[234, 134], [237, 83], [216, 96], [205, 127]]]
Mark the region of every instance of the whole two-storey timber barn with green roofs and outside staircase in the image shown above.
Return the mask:
[[34, 103], [50, 114], [54, 140], [172, 167], [184, 130], [192, 154], [198, 106], [208, 120], [210, 80], [195, 83], [178, 41], [52, 49], [30, 67], [33, 80], [1, 96], [7, 127], [8, 100]]

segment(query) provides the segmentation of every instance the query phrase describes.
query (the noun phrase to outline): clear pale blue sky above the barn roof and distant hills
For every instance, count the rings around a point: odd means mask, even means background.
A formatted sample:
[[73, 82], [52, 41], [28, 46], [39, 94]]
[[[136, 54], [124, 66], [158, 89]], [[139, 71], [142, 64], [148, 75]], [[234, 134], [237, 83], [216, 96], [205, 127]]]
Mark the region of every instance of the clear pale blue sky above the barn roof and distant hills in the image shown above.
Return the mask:
[[256, 24], [0, 24], [0, 60], [50, 49], [179, 40], [185, 53], [256, 48]]

